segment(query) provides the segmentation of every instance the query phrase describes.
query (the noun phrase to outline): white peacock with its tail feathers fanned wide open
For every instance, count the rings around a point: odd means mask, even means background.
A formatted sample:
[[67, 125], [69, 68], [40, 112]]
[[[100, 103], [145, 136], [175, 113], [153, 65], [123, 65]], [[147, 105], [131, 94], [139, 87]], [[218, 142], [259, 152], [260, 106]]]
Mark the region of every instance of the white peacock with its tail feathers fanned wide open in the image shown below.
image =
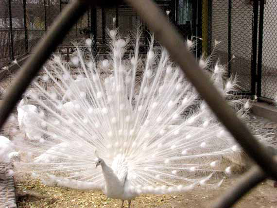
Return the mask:
[[[94, 56], [87, 39], [71, 65], [54, 56], [44, 67], [30, 93], [34, 107], [18, 108], [35, 116], [20, 120], [32, 134], [17, 141], [28, 159], [18, 165], [47, 185], [102, 189], [122, 206], [128, 200], [129, 207], [142, 193], [220, 186], [231, 173], [223, 157], [240, 152], [232, 137], [153, 37], [147, 56], [140, 56], [141, 32], [125, 40], [116, 30], [109, 34], [109, 60]], [[193, 44], [188, 40], [183, 47]], [[205, 58], [199, 65], [210, 68]], [[236, 79], [224, 80], [219, 64], [210, 71], [218, 90], [245, 116], [249, 102], [230, 93]]]

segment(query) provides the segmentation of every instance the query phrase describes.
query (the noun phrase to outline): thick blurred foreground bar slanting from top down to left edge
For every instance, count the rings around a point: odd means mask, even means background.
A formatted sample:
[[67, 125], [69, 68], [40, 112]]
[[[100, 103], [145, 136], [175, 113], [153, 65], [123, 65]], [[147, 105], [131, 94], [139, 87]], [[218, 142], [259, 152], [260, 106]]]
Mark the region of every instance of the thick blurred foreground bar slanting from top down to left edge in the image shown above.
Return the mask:
[[35, 47], [34, 54], [23, 65], [23, 69], [19, 71], [14, 85], [5, 94], [0, 104], [0, 129], [38, 70], [65, 37], [61, 34], [68, 33], [79, 17], [85, 13], [88, 8], [87, 3], [87, 0], [72, 1], [53, 22], [47, 35]]

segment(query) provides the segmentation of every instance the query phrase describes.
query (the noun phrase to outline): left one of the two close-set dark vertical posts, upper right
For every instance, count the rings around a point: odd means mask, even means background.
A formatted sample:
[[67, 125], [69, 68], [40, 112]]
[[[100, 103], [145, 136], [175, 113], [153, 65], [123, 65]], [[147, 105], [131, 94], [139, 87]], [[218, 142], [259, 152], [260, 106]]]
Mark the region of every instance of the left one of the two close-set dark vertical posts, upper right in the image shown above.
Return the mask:
[[256, 94], [256, 69], [257, 69], [257, 41], [258, 41], [258, 0], [253, 4], [253, 36], [252, 36], [252, 63], [251, 63], [251, 92]]

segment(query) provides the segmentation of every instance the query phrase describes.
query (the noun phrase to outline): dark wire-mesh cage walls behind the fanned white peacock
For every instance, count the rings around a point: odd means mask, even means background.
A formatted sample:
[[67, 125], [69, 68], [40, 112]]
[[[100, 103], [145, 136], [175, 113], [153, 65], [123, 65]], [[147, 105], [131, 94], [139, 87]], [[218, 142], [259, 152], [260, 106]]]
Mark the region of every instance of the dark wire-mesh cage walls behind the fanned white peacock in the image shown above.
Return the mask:
[[[0, 0], [0, 67], [32, 52], [68, 0]], [[275, 0], [156, 0], [178, 31], [196, 42], [200, 57], [214, 52], [229, 76], [238, 75], [238, 94], [276, 99], [277, 2]], [[113, 18], [115, 22], [113, 22]], [[144, 52], [148, 29], [125, 3], [113, 8], [90, 7], [58, 51], [69, 59], [72, 41], [93, 36], [100, 53], [107, 49], [106, 29], [119, 28], [122, 36], [142, 25]], [[220, 44], [214, 50], [214, 43]], [[267, 100], [267, 101], [268, 101]]]

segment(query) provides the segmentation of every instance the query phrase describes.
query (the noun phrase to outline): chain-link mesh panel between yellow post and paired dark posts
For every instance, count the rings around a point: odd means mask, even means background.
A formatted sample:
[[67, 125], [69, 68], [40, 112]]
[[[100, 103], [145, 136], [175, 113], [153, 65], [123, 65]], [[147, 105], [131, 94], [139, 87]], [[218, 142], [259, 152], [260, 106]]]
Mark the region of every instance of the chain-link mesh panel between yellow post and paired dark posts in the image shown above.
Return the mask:
[[238, 75], [240, 90], [252, 91], [253, 5], [242, 0], [212, 0], [208, 41], [229, 75]]

